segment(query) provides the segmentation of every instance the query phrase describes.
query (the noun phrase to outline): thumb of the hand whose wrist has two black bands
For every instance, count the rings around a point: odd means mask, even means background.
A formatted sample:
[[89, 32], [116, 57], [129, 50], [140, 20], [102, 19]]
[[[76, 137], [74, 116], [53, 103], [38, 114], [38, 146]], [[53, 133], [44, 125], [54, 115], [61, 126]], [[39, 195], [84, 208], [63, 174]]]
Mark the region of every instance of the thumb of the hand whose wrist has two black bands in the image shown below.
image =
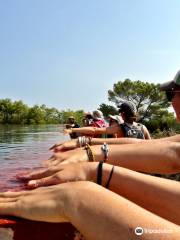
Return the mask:
[[61, 183], [61, 180], [59, 177], [56, 176], [50, 176], [38, 180], [31, 180], [28, 182], [27, 186], [28, 188], [38, 188], [43, 186], [50, 186], [50, 185], [56, 185]]

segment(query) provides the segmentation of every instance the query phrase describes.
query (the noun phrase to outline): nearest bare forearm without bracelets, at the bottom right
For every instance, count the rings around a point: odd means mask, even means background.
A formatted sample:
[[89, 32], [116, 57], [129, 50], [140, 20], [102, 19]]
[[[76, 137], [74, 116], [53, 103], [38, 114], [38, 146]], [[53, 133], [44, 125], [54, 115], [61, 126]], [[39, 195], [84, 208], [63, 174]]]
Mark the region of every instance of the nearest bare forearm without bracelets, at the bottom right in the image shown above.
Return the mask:
[[[87, 240], [137, 239], [134, 229], [169, 229], [172, 234], [146, 234], [143, 239], [177, 239], [180, 229], [94, 183], [79, 182], [66, 204], [70, 222]], [[72, 187], [72, 189], [75, 189]], [[72, 193], [73, 192], [73, 193]], [[170, 237], [170, 238], [169, 238]]]

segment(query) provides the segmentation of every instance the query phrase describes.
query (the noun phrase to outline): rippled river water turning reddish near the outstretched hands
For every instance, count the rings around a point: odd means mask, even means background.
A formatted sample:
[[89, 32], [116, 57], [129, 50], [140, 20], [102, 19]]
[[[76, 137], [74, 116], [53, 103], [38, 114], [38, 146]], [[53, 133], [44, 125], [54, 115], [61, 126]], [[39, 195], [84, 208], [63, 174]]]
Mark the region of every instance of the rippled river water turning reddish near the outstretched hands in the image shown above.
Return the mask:
[[16, 175], [42, 166], [53, 144], [69, 138], [59, 125], [0, 125], [0, 191], [23, 186]]

